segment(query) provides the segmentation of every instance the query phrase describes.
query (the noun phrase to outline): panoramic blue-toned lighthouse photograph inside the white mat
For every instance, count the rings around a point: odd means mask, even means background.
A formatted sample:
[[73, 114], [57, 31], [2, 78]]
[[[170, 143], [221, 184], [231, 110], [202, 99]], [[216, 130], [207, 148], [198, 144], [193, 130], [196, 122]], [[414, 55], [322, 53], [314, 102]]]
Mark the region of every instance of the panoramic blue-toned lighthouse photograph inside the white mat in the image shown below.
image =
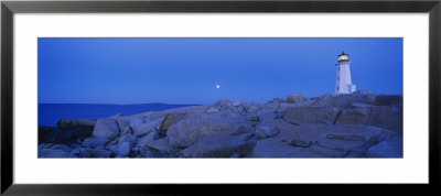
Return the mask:
[[401, 37], [39, 37], [40, 159], [402, 159]]

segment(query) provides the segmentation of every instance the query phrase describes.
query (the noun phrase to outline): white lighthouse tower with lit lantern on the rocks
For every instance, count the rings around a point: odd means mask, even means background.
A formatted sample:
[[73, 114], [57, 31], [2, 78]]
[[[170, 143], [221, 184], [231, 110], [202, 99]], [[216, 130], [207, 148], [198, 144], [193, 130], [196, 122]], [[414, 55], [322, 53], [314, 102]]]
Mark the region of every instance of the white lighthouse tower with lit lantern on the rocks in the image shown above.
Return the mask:
[[348, 54], [342, 52], [338, 57], [337, 78], [335, 80], [335, 94], [352, 94], [355, 91], [355, 85], [351, 80], [351, 64]]

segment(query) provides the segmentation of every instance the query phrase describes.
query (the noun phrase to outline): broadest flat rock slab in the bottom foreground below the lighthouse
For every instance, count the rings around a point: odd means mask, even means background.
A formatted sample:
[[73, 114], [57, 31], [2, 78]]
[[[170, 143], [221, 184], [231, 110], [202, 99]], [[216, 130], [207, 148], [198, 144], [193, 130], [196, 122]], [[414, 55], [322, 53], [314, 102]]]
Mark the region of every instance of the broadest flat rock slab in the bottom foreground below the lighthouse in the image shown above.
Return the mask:
[[281, 128], [278, 135], [259, 140], [249, 156], [364, 156], [369, 146], [395, 135], [390, 130], [361, 124], [309, 123]]

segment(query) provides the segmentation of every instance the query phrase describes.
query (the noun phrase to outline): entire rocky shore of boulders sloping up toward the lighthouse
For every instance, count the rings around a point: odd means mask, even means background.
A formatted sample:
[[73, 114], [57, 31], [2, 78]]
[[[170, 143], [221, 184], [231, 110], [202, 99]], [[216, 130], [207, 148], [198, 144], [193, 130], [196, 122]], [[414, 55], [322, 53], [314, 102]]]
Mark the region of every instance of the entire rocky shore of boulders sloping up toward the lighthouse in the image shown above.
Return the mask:
[[402, 96], [220, 100], [39, 128], [39, 157], [402, 157]]

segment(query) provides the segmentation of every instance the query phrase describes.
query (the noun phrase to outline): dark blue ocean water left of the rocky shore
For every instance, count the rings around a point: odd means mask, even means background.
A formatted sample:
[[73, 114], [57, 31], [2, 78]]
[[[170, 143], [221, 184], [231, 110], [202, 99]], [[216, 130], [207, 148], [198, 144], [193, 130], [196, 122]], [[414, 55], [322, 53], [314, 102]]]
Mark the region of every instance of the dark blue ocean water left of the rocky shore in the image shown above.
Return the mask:
[[100, 119], [117, 113], [125, 116], [147, 112], [162, 111], [172, 108], [181, 108], [196, 105], [94, 105], [94, 104], [39, 104], [39, 126], [53, 127], [60, 119]]

